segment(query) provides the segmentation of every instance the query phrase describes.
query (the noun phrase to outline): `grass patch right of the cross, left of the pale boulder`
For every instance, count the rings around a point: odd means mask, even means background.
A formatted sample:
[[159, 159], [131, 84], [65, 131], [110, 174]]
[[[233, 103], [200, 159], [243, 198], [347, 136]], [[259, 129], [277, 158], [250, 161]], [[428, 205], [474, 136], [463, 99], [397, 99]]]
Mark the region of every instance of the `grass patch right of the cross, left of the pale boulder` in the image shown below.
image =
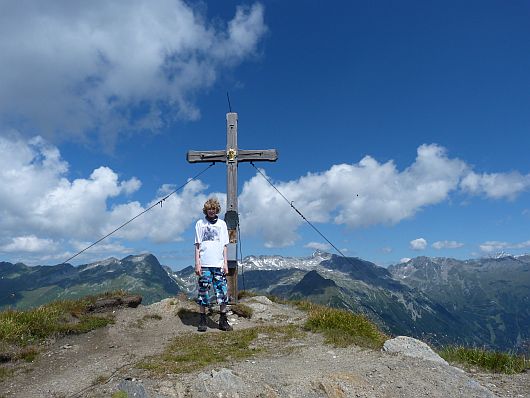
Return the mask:
[[304, 327], [312, 332], [322, 333], [326, 343], [336, 347], [355, 344], [380, 349], [388, 339], [386, 334], [362, 314], [309, 302], [299, 302], [297, 306], [308, 312]]

